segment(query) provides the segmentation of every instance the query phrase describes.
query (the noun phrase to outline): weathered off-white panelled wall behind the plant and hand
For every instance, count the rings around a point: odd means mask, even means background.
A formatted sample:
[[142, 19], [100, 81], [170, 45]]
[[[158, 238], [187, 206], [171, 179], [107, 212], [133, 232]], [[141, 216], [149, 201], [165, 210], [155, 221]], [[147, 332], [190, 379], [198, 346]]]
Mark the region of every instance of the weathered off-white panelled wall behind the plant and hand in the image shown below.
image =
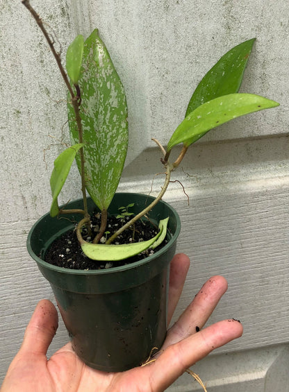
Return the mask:
[[[192, 260], [177, 314], [204, 280], [217, 273], [229, 281], [229, 291], [211, 322], [234, 316], [245, 327], [242, 339], [218, 350], [217, 361], [210, 356], [195, 371], [214, 392], [285, 391], [289, 388], [289, 3], [32, 3], [53, 29], [63, 53], [77, 33], [88, 35], [94, 27], [108, 46], [129, 104], [130, 153], [120, 190], [150, 190], [154, 174], [161, 170], [151, 137], [165, 144], [206, 71], [232, 46], [257, 37], [242, 92], [275, 99], [280, 107], [236, 119], [192, 146], [183, 170], [175, 175], [190, 196], [190, 206], [177, 183], [165, 200], [181, 214], [178, 250]], [[53, 299], [49, 284], [26, 253], [25, 241], [33, 222], [49, 210], [53, 160], [68, 137], [65, 88], [20, 0], [0, 0], [0, 53], [3, 377], [36, 303]], [[75, 169], [71, 179], [63, 202], [81, 196]], [[155, 193], [160, 185], [156, 178]], [[50, 352], [66, 341], [60, 324]], [[172, 390], [198, 389], [183, 376]]]

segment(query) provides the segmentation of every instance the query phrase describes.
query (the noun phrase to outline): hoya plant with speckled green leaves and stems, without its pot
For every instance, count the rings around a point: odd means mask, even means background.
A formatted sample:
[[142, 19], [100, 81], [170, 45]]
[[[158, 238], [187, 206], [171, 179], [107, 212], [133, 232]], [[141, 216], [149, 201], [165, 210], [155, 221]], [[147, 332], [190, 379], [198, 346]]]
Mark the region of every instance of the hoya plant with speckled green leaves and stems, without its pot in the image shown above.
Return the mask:
[[[67, 49], [64, 67], [38, 14], [28, 0], [22, 0], [22, 3], [31, 11], [42, 29], [68, 90], [67, 110], [72, 146], [60, 153], [54, 162], [50, 180], [51, 216], [72, 212], [60, 209], [58, 196], [72, 163], [76, 160], [81, 174], [83, 210], [73, 212], [83, 215], [76, 229], [83, 253], [90, 259], [115, 261], [136, 255], [149, 247], [155, 248], [165, 239], [167, 219], [159, 222], [158, 234], [148, 241], [124, 245], [115, 245], [113, 241], [135, 221], [147, 215], [160, 201], [170, 184], [172, 171], [179, 167], [191, 144], [208, 131], [232, 119], [279, 105], [263, 96], [238, 92], [255, 39], [234, 46], [208, 71], [193, 92], [185, 118], [172, 133], [167, 146], [162, 146], [154, 139], [163, 154], [163, 187], [145, 210], [110, 235], [106, 228], [108, 207], [119, 184], [128, 148], [128, 108], [124, 87], [97, 29], [92, 31], [86, 40], [83, 35], [75, 38]], [[170, 153], [179, 144], [183, 146], [181, 153], [171, 162]], [[86, 191], [101, 212], [99, 232], [91, 243], [85, 241], [81, 235], [83, 226], [86, 225], [90, 230]], [[119, 207], [120, 214], [130, 215], [127, 207]], [[105, 244], [99, 244], [104, 235]]]

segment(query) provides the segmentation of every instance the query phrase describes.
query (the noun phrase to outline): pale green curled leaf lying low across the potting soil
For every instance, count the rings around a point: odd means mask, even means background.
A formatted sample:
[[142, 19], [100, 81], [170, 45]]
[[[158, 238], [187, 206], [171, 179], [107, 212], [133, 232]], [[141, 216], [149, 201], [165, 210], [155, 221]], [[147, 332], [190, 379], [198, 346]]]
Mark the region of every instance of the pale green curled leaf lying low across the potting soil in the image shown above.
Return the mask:
[[[154, 242], [158, 241], [160, 237], [165, 239], [165, 235], [167, 233], [168, 219], [169, 218], [166, 218], [160, 221], [158, 225], [160, 231], [154, 238], [151, 238], [148, 241], [135, 242], [133, 244], [124, 244], [124, 245], [90, 244], [89, 242], [83, 241], [83, 244], [81, 244], [81, 248], [83, 250], [83, 253], [86, 256], [90, 257], [90, 259], [92, 260], [114, 262], [118, 260], [127, 259], [134, 255], [138, 255], [138, 253], [141, 253], [143, 250], [146, 250], [151, 245], [153, 245]], [[151, 248], [153, 248], [153, 246], [151, 246]]]

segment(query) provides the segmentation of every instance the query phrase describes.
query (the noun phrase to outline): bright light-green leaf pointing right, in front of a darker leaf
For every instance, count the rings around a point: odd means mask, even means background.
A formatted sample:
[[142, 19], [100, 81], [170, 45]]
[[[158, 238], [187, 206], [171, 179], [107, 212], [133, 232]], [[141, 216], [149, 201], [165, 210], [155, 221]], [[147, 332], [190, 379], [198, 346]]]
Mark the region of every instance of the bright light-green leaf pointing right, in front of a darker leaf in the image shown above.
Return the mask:
[[196, 142], [209, 130], [258, 110], [274, 108], [279, 103], [255, 94], [229, 94], [208, 101], [191, 112], [174, 131], [167, 151], [176, 144]]

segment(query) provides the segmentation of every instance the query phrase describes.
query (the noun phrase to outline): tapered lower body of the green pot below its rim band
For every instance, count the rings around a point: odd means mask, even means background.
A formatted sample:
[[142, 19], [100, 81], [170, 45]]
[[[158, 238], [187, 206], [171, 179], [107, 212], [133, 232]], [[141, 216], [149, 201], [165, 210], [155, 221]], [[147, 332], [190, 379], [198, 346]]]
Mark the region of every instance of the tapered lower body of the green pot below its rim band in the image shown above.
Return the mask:
[[85, 364], [106, 372], [124, 371], [139, 366], [152, 348], [163, 345], [168, 271], [115, 293], [89, 295], [53, 287], [72, 347]]

